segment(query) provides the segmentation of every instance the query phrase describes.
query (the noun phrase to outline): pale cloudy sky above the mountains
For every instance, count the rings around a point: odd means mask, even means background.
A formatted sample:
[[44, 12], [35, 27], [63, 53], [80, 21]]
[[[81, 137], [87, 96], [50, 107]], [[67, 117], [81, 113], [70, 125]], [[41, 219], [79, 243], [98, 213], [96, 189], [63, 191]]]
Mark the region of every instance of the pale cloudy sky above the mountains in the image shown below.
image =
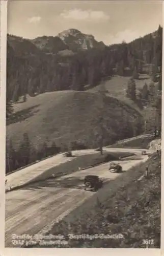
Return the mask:
[[162, 1], [8, 1], [8, 33], [56, 36], [67, 29], [106, 45], [132, 41], [162, 25]]

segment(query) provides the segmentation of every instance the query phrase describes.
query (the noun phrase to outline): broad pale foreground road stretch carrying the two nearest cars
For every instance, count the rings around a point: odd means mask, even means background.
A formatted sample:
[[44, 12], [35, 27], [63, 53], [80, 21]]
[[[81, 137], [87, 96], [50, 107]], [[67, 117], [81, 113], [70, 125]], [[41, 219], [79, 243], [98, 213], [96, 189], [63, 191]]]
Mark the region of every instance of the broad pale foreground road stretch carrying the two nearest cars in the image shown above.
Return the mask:
[[[121, 152], [121, 148], [118, 151]], [[126, 151], [128, 151], [127, 148]], [[134, 151], [136, 153], [141, 152], [141, 150], [133, 149], [132, 152]], [[140, 154], [139, 159], [124, 160], [121, 165], [123, 170], [127, 171], [132, 166], [147, 159], [148, 156]], [[117, 176], [123, 175], [111, 173], [108, 167], [109, 163], [101, 164], [93, 168], [78, 170], [58, 179], [26, 185], [19, 190], [7, 193], [5, 246], [12, 247], [13, 234], [17, 236], [22, 234], [32, 236], [37, 233], [44, 234], [57, 221], [63, 219], [72, 210], [83, 204], [85, 200], [92, 197], [95, 194], [94, 192], [85, 191], [81, 187], [86, 175], [98, 175], [106, 182], [104, 186], [108, 185], [107, 181], [109, 179], [115, 179]]]

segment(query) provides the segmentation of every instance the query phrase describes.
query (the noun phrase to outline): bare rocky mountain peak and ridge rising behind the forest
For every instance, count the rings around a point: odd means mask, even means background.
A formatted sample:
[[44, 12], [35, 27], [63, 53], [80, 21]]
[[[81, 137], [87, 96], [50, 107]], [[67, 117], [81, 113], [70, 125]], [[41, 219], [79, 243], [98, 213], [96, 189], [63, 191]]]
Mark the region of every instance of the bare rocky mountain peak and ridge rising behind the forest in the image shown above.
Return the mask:
[[[60, 32], [56, 36], [38, 36], [33, 39], [23, 38], [8, 34], [8, 41], [17, 40], [20, 42], [32, 43], [34, 46], [45, 53], [56, 54], [63, 50], [71, 50], [72, 52], [84, 51], [93, 48], [102, 49], [105, 44], [102, 41], [95, 40], [93, 35], [84, 34], [77, 29], [68, 29]], [[37, 50], [36, 50], [37, 51]]]

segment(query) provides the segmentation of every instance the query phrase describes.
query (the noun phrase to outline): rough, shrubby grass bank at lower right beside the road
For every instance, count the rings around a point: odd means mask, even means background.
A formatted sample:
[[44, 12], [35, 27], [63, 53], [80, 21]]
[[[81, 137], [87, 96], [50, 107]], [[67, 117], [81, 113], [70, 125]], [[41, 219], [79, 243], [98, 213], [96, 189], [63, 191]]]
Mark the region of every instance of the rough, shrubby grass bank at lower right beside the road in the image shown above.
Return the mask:
[[[150, 178], [138, 181], [147, 164]], [[81, 207], [85, 211], [77, 208], [72, 217], [54, 225], [50, 233], [64, 234], [66, 238], [69, 233], [124, 236], [124, 239], [68, 240], [65, 247], [146, 248], [143, 239], [152, 239], [149, 247], [160, 248], [160, 174], [160, 158], [154, 154], [146, 163], [116, 178], [108, 188], [108, 200], [89, 202], [88, 207], [84, 204]]]

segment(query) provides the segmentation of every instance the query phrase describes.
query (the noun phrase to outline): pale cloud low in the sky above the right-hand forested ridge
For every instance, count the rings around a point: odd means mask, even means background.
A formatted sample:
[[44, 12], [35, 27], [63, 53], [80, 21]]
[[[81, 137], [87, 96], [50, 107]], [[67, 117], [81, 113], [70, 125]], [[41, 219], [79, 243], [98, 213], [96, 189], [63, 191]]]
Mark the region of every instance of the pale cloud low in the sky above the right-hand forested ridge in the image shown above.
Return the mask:
[[118, 32], [116, 35], [106, 36], [104, 42], [107, 45], [120, 44], [122, 41], [131, 42], [140, 36], [143, 36], [140, 32], [126, 29], [124, 31]]

